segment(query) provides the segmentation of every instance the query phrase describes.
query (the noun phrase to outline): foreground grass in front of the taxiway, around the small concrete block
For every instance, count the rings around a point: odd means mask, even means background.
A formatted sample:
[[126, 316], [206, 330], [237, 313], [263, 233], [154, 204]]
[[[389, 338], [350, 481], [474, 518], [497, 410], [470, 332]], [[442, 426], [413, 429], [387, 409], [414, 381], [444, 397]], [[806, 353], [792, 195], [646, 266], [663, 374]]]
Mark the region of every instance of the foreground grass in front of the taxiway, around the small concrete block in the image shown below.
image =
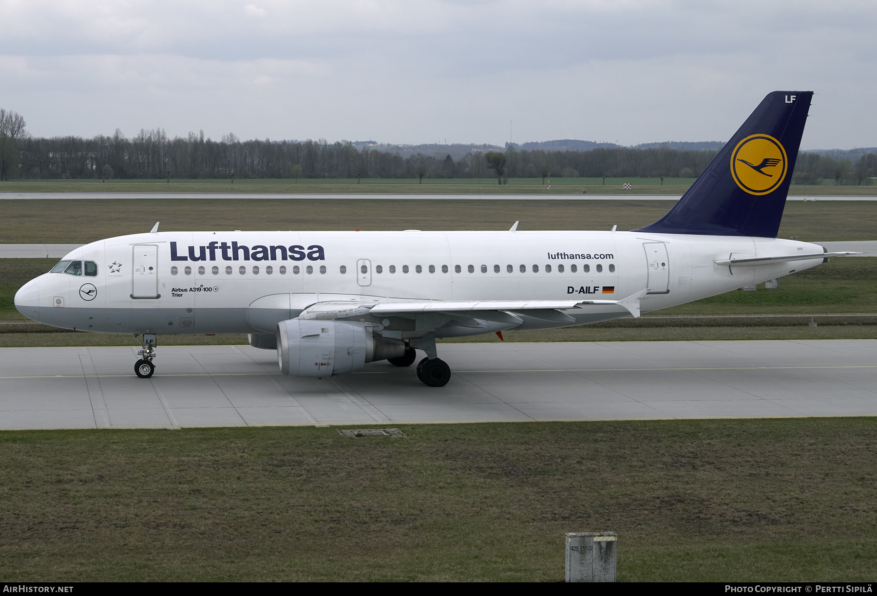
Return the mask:
[[877, 421], [4, 431], [3, 581], [869, 581]]

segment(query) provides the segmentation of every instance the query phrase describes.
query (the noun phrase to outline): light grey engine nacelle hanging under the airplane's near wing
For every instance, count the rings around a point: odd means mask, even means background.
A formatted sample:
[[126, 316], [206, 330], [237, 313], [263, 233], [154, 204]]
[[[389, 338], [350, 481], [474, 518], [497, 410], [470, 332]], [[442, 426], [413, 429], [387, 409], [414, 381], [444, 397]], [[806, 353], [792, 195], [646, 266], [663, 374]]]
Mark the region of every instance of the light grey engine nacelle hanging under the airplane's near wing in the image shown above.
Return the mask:
[[367, 362], [404, 353], [401, 339], [374, 336], [372, 326], [362, 323], [313, 319], [277, 323], [277, 363], [290, 377], [353, 373]]

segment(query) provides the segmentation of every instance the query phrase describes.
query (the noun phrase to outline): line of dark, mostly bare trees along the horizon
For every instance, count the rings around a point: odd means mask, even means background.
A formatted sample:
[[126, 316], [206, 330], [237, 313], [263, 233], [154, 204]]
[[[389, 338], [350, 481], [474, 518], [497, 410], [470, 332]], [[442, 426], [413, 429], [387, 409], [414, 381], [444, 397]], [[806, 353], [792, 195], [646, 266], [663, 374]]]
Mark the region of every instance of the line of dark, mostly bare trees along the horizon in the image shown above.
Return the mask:
[[[240, 140], [234, 134], [218, 140], [203, 131], [168, 138], [165, 131], [141, 130], [126, 138], [118, 129], [93, 138], [33, 138], [24, 118], [0, 110], [0, 178], [20, 179], [216, 179], [216, 178], [695, 178], [717, 150], [667, 147], [597, 147], [590, 151], [473, 150], [459, 160], [417, 153], [398, 153], [352, 143], [318, 140]], [[868, 184], [877, 175], [877, 156], [858, 163], [817, 153], [799, 153], [796, 183]]]

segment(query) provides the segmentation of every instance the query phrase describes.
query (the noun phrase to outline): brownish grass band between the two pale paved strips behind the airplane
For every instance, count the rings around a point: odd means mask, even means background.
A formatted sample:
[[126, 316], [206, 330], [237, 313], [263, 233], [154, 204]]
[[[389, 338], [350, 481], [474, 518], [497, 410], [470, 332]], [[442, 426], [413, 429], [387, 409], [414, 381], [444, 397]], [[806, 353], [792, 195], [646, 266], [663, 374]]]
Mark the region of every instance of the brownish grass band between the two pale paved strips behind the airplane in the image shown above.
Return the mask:
[[[175, 230], [631, 230], [660, 219], [663, 201], [345, 199], [4, 200], [0, 244], [87, 243]], [[781, 238], [877, 239], [877, 201], [788, 202]]]

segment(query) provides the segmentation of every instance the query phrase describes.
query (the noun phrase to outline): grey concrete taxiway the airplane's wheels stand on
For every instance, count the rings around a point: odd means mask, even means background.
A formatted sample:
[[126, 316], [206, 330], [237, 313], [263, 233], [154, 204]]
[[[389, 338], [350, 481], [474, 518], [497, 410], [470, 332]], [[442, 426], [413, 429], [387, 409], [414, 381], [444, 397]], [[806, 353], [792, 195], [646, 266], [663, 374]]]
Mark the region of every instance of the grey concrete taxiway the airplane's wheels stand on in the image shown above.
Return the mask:
[[877, 340], [439, 344], [453, 370], [295, 379], [274, 351], [159, 348], [150, 380], [132, 348], [0, 349], [0, 428], [584, 421], [877, 415]]

